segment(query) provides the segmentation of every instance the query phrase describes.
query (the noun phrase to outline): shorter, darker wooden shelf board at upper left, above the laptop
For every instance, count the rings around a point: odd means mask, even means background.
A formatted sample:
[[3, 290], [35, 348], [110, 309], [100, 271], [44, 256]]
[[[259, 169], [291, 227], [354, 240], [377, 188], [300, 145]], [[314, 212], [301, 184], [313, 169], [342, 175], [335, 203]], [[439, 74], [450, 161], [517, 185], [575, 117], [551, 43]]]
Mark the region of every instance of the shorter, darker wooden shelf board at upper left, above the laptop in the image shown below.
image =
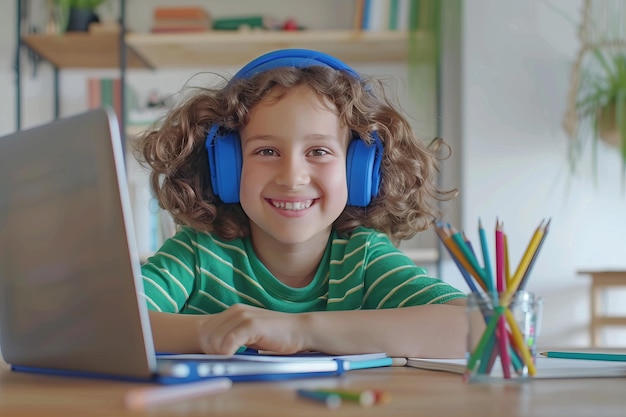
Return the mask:
[[[57, 68], [120, 67], [120, 38], [115, 32], [26, 35], [22, 41]], [[127, 48], [127, 66], [146, 68], [146, 63]]]

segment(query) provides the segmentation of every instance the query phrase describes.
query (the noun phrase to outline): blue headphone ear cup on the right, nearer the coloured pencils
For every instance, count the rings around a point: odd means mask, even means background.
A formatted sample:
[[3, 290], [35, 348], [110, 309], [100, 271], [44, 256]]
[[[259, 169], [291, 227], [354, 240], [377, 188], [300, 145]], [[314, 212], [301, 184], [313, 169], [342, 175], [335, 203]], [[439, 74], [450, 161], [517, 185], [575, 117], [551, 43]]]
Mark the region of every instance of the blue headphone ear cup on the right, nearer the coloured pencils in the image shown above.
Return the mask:
[[348, 145], [346, 174], [348, 180], [348, 205], [366, 207], [378, 195], [380, 187], [380, 163], [382, 143], [372, 132], [373, 144], [368, 145], [360, 137]]

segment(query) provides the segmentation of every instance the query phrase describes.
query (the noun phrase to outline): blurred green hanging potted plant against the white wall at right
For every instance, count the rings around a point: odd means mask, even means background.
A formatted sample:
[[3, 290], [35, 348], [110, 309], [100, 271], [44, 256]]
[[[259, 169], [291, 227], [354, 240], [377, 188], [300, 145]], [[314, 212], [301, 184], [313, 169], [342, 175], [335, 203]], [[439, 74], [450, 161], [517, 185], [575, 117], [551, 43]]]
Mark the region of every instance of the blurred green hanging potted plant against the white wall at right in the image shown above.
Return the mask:
[[[570, 97], [565, 130], [570, 137], [569, 160], [576, 171], [591, 142], [594, 172], [599, 141], [617, 148], [626, 176], [626, 49], [595, 47], [574, 68], [577, 81]], [[583, 59], [584, 58], [584, 59]]]

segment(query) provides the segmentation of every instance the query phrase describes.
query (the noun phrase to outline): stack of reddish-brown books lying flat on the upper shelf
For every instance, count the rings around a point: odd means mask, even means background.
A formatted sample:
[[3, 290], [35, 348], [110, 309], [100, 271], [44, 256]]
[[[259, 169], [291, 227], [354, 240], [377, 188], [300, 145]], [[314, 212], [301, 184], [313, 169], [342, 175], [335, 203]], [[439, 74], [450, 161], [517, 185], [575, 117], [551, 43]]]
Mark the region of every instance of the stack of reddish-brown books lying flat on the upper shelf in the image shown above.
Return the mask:
[[152, 32], [204, 32], [211, 29], [211, 15], [202, 7], [156, 7]]

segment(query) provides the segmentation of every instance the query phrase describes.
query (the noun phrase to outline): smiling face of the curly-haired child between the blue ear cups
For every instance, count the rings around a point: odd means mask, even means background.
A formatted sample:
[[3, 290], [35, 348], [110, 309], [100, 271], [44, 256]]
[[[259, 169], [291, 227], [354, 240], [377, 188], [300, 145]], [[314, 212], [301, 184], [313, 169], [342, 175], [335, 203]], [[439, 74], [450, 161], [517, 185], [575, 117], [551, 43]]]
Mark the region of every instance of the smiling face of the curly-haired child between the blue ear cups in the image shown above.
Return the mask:
[[348, 199], [348, 129], [306, 86], [265, 99], [240, 132], [240, 201], [255, 241], [326, 243]]

